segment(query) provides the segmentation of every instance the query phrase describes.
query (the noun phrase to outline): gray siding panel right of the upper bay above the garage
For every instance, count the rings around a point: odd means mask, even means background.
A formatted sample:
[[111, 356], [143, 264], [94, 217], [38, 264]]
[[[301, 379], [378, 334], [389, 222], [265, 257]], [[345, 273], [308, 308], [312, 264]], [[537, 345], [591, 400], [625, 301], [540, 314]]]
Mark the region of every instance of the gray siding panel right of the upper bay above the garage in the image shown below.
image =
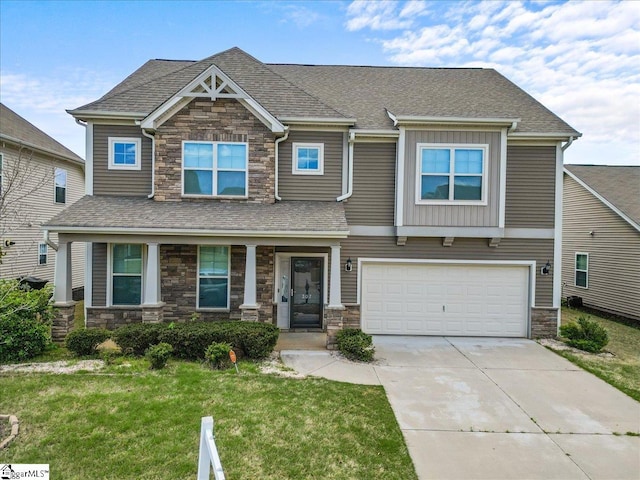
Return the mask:
[[507, 147], [505, 227], [553, 228], [556, 147]]

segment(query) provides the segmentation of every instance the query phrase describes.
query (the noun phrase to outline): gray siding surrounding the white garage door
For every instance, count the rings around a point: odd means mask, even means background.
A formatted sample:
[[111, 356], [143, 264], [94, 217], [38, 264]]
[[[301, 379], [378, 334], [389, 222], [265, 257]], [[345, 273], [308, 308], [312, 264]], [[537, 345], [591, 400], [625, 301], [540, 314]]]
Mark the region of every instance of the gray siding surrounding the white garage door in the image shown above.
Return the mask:
[[503, 238], [497, 248], [487, 245], [482, 238], [456, 238], [451, 247], [443, 247], [441, 238], [409, 238], [406, 245], [398, 246], [396, 237], [350, 236], [341, 242], [342, 263], [351, 258], [354, 268], [342, 271], [342, 301], [357, 302], [356, 265], [358, 258], [397, 258], [423, 260], [494, 260], [535, 261], [537, 307], [553, 305], [553, 276], [540, 275], [540, 265], [553, 259], [553, 239]]

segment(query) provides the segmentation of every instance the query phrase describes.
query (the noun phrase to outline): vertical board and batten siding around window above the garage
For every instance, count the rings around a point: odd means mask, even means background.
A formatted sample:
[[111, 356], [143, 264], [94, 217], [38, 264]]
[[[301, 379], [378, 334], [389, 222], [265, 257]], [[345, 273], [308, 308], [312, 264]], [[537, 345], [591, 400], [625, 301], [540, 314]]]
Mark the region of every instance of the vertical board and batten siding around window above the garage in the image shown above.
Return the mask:
[[[406, 226], [497, 227], [500, 209], [500, 132], [407, 130], [404, 165]], [[489, 146], [487, 205], [416, 205], [418, 143]]]

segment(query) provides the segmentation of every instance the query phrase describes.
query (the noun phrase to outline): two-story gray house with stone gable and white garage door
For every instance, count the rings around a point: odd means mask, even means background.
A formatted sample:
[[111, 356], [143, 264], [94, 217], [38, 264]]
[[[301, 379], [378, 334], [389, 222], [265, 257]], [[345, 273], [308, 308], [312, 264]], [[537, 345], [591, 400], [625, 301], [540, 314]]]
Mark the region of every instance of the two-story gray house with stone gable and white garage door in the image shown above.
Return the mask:
[[[70, 110], [87, 325], [203, 320], [555, 335], [563, 150], [580, 134], [493, 69], [151, 60]], [[60, 271], [55, 298], [69, 300]], [[61, 315], [64, 314], [61, 311]]]

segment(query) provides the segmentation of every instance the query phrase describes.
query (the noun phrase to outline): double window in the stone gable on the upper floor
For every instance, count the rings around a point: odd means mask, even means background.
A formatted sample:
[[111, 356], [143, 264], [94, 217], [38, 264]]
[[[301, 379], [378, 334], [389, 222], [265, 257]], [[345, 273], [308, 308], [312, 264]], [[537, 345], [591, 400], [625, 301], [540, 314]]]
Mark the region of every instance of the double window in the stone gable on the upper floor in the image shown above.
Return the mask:
[[184, 195], [247, 196], [247, 144], [183, 142]]

